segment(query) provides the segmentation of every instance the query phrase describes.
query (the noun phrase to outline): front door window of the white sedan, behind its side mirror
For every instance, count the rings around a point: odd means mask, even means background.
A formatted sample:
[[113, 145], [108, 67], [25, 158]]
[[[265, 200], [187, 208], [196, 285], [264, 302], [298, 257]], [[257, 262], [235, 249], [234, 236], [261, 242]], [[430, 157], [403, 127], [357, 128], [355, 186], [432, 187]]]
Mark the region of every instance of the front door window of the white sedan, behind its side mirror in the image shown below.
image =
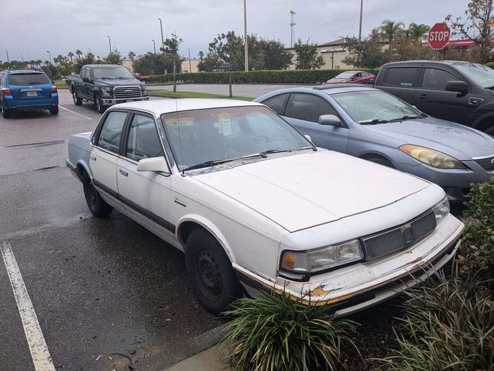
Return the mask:
[[139, 161], [158, 156], [163, 156], [163, 149], [154, 119], [145, 115], [134, 115], [127, 140], [126, 157]]

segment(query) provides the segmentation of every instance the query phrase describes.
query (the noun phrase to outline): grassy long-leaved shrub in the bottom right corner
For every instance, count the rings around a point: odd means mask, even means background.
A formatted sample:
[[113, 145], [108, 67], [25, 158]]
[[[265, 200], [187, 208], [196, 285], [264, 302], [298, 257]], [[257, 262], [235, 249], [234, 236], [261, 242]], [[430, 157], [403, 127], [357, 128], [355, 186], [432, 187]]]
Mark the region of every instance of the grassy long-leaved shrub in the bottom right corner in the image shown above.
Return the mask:
[[411, 289], [385, 370], [494, 370], [494, 302], [444, 277]]

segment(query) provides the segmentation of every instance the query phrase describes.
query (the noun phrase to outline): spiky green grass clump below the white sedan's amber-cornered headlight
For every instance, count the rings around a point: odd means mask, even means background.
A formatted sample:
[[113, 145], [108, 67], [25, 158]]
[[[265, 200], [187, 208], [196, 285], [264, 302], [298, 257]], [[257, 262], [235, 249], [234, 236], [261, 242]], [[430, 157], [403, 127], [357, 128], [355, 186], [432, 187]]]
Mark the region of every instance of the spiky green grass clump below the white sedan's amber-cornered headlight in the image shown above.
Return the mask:
[[259, 293], [224, 313], [220, 348], [237, 370], [336, 370], [342, 344], [355, 346], [356, 324], [335, 320], [331, 306], [307, 306], [288, 295]]

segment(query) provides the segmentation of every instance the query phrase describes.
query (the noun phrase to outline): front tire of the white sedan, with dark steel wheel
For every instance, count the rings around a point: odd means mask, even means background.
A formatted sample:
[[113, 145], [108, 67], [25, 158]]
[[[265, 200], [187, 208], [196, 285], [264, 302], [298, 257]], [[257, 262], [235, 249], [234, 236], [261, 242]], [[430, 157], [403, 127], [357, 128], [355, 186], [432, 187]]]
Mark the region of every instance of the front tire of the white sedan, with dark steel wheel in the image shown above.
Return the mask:
[[187, 273], [198, 300], [213, 314], [226, 311], [242, 296], [242, 286], [217, 240], [204, 229], [193, 231], [185, 247]]

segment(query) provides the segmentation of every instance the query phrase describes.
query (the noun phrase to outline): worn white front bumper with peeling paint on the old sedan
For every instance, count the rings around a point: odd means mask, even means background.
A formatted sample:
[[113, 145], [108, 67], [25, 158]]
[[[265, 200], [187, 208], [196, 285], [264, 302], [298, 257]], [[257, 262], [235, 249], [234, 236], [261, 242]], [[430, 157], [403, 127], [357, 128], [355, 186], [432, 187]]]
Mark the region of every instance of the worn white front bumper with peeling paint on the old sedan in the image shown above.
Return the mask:
[[233, 265], [248, 286], [274, 290], [307, 305], [334, 305], [336, 316], [349, 315], [379, 304], [436, 273], [454, 258], [464, 229], [450, 215], [436, 232], [420, 243], [373, 262], [337, 269], [309, 282], [277, 277], [272, 281]]

